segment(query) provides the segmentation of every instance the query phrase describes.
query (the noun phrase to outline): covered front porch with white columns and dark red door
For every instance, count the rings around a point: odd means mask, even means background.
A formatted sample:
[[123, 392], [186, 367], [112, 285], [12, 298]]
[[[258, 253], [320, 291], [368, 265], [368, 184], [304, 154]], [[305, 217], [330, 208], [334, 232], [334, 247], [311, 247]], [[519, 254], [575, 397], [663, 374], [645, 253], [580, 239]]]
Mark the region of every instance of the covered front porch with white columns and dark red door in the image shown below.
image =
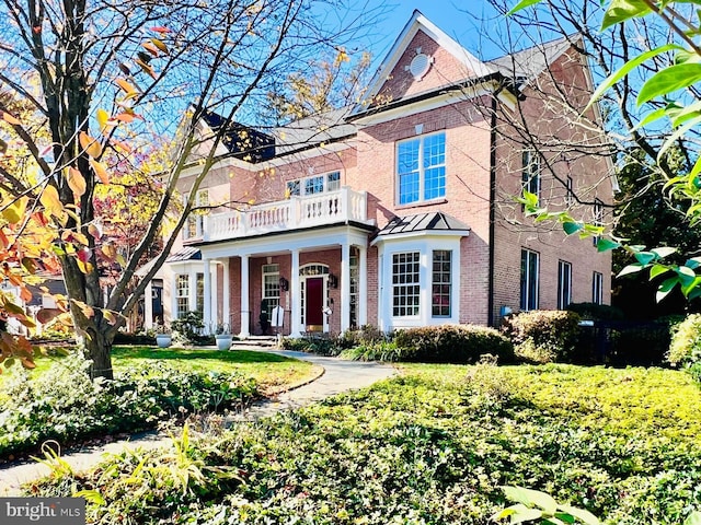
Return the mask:
[[371, 230], [344, 224], [202, 244], [200, 258], [172, 268], [174, 317], [197, 310], [206, 331], [241, 338], [363, 326]]

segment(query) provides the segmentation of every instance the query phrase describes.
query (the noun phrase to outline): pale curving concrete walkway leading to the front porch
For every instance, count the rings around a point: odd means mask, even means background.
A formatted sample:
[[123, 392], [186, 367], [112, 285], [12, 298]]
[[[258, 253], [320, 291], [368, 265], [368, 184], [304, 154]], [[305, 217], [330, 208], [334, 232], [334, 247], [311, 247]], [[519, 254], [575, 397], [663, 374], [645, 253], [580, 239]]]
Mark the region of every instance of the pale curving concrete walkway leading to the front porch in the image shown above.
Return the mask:
[[[246, 348], [246, 350], [257, 350]], [[275, 399], [265, 399], [253, 404], [240, 415], [230, 418], [234, 421], [254, 421], [258, 418], [272, 416], [280, 410], [288, 410], [313, 401], [324, 399], [336, 394], [365, 388], [372, 383], [394, 375], [392, 366], [379, 363], [363, 363], [358, 361], [342, 361], [337, 358], [322, 358], [303, 352], [288, 350], [265, 350], [288, 358], [310, 361], [324, 369], [324, 373], [311, 383], [283, 394]], [[125, 448], [150, 450], [159, 446], [170, 446], [168, 435], [156, 432], [131, 436], [128, 441], [117, 441], [97, 448], [69, 453], [61, 458], [70, 464], [74, 471], [85, 470], [102, 460], [105, 454], [118, 454]], [[20, 494], [20, 486], [49, 474], [49, 468], [41, 463], [30, 462], [0, 466], [0, 497]]]

